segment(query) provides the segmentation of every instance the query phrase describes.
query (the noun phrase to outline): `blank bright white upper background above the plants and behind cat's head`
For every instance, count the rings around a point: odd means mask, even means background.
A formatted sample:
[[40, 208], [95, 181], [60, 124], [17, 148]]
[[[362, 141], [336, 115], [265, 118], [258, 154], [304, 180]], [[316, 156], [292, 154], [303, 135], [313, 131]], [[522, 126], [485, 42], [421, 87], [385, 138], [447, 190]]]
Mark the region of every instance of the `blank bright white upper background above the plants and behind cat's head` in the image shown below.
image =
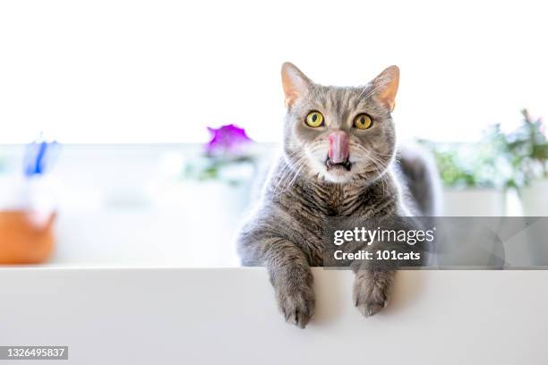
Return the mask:
[[548, 115], [543, 2], [3, 1], [0, 142], [278, 140], [279, 67], [363, 84], [398, 64], [400, 136]]

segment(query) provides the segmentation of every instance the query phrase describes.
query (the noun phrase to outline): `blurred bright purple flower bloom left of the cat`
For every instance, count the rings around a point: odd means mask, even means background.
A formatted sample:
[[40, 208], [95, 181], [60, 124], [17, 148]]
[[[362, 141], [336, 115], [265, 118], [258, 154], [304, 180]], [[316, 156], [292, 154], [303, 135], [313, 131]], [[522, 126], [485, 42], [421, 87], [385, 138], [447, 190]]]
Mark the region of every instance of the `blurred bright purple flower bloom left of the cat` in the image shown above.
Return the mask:
[[206, 152], [211, 156], [223, 154], [237, 155], [244, 151], [246, 145], [253, 142], [243, 128], [234, 124], [223, 125], [220, 128], [210, 128], [211, 140], [206, 145]]

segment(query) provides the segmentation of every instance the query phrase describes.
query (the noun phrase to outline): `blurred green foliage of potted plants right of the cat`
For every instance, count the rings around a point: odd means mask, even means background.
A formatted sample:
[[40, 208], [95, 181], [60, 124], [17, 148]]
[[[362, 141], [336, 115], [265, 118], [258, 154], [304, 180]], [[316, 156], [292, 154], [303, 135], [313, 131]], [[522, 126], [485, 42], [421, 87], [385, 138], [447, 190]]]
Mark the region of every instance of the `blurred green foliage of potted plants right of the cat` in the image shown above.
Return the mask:
[[533, 120], [527, 109], [522, 115], [523, 123], [516, 130], [506, 133], [501, 124], [493, 124], [477, 143], [422, 140], [435, 157], [442, 183], [451, 188], [520, 189], [548, 177], [544, 123]]

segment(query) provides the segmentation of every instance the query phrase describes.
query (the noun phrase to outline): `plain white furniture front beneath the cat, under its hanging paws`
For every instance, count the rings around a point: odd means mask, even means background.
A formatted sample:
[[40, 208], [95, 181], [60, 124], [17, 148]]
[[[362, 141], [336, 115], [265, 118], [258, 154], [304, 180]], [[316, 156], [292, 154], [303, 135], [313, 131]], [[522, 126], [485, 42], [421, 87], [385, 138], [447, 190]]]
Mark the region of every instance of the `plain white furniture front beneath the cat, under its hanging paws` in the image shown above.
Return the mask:
[[68, 345], [59, 363], [74, 364], [548, 363], [547, 271], [400, 272], [372, 318], [352, 305], [351, 272], [313, 272], [301, 330], [261, 267], [4, 267], [0, 345]]

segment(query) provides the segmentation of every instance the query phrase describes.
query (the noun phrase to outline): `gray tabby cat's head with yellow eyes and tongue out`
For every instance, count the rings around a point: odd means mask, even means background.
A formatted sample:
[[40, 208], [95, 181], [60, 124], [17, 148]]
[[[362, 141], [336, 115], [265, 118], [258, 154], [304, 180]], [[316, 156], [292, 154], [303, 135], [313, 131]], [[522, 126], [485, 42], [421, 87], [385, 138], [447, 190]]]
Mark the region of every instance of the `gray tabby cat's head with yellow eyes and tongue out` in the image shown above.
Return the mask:
[[390, 112], [398, 80], [398, 67], [390, 66], [364, 87], [323, 86], [283, 64], [284, 153], [292, 170], [330, 183], [383, 174], [396, 149]]

